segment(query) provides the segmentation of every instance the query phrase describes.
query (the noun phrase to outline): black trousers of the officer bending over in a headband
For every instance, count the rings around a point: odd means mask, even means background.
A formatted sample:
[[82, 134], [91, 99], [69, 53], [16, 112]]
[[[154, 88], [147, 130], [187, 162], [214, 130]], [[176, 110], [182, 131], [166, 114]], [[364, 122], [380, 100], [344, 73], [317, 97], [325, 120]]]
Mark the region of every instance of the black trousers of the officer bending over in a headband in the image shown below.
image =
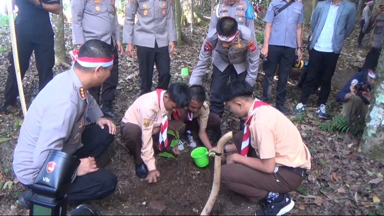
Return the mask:
[[222, 100], [223, 89], [227, 86], [229, 78], [231, 78], [231, 81], [245, 80], [247, 74], [247, 71], [238, 74], [232, 64], [228, 65], [222, 72], [216, 67], [215, 63], [213, 63], [210, 96], [211, 105], [209, 108], [212, 113], [215, 113], [222, 118], [224, 112], [224, 101]]

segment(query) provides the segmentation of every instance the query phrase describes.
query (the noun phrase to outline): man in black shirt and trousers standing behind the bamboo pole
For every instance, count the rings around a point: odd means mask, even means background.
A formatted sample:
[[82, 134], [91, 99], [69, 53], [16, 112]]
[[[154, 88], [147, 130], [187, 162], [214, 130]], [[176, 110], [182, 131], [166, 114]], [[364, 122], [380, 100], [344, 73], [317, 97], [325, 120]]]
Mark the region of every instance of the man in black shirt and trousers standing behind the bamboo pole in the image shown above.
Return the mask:
[[[12, 0], [12, 8], [18, 7], [15, 20], [17, 52], [22, 79], [29, 68], [32, 52], [35, 51], [36, 68], [39, 74], [39, 91], [53, 78], [55, 65], [53, 29], [49, 13], [60, 13], [60, 0]], [[12, 50], [8, 55], [8, 77], [5, 83], [4, 103], [1, 113], [8, 113], [16, 106], [18, 87]]]

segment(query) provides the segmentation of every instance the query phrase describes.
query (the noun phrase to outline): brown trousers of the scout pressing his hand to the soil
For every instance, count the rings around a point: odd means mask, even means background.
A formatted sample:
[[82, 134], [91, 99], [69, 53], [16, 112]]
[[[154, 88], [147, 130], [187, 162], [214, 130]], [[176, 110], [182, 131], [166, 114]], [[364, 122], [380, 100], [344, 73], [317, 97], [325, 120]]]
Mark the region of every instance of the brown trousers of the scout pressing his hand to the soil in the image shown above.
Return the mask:
[[[178, 129], [180, 134], [185, 133], [185, 125], [180, 120], [168, 120], [168, 130], [174, 131]], [[142, 164], [143, 160], [141, 158], [141, 148], [142, 148], [142, 140], [141, 140], [141, 128], [139, 125], [135, 125], [132, 123], [123, 123], [120, 127], [121, 141], [127, 146], [129, 153], [133, 156], [136, 164]], [[155, 154], [160, 153], [159, 151], [159, 134], [152, 135], [153, 141], [153, 150]], [[166, 151], [172, 151], [172, 148], [169, 147], [171, 141], [175, 138], [174, 136], [167, 134], [168, 137], [168, 147]]]

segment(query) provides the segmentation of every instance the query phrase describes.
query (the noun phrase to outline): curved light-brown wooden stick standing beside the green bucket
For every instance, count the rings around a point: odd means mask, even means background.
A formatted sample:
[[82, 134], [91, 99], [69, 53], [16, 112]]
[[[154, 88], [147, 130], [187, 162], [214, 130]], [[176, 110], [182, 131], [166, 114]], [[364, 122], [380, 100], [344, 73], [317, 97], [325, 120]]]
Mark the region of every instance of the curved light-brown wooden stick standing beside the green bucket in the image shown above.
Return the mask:
[[[226, 133], [220, 140], [217, 142], [216, 153], [222, 154], [224, 144], [232, 139], [232, 131]], [[212, 185], [211, 194], [209, 195], [208, 201], [204, 206], [203, 211], [200, 215], [209, 215], [211, 213], [212, 207], [215, 204], [217, 199], [218, 190], [220, 189], [220, 176], [221, 176], [221, 155], [215, 156], [215, 171], [214, 171], [214, 183]]]

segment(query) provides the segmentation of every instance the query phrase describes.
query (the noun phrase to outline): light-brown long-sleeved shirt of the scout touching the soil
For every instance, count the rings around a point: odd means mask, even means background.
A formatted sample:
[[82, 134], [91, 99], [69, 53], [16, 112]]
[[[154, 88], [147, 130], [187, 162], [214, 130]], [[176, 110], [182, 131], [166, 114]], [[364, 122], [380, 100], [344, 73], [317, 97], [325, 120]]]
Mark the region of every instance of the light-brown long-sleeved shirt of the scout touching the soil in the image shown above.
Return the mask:
[[[141, 128], [141, 158], [147, 165], [148, 171], [156, 169], [152, 135], [160, 131], [161, 121], [165, 115], [169, 115], [162, 100], [166, 91], [161, 92], [161, 100], [156, 91], [144, 94], [137, 98], [125, 112], [122, 123], [132, 123]], [[157, 144], [157, 143], [156, 143]]]

